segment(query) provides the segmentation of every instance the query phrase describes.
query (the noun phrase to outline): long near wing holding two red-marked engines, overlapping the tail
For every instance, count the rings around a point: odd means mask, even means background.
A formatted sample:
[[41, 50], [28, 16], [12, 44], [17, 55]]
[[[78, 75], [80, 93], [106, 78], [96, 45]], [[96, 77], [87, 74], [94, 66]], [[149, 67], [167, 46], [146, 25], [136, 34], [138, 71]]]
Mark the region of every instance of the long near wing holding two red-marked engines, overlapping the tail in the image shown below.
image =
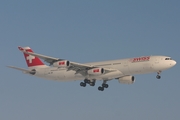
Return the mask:
[[[54, 57], [50, 57], [50, 56], [45, 56], [45, 55], [41, 55], [41, 54], [37, 54], [34, 52], [28, 52], [26, 51], [24, 48], [22, 47], [18, 47], [20, 51], [22, 51], [23, 53], [32, 55], [32, 56], [36, 56], [38, 58], [43, 59], [45, 62], [49, 63], [50, 65], [53, 65], [53, 63], [58, 62], [58, 61], [63, 61], [65, 59], [59, 59], [59, 58], [54, 58]], [[81, 63], [76, 63], [76, 62], [69, 62], [70, 65], [67, 68], [67, 70], [73, 70], [76, 72], [76, 74], [80, 73], [83, 76], [87, 75], [87, 71], [93, 68], [98, 68], [96, 66], [92, 66], [92, 65], [87, 65], [87, 64], [81, 64]], [[117, 71], [116, 69], [107, 69], [107, 68], [103, 68], [105, 73], [109, 73], [109, 72], [114, 72]]]

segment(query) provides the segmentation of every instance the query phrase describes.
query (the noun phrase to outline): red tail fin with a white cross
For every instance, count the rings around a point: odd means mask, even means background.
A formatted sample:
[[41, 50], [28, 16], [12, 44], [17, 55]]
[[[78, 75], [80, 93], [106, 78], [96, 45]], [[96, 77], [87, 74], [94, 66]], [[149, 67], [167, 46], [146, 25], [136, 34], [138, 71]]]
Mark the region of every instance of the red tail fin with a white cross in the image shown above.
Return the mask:
[[[33, 50], [30, 47], [24, 47], [24, 48], [18, 47], [18, 48], [19, 48], [19, 50], [24, 49], [27, 52], [33, 52]], [[26, 54], [26, 53], [23, 53], [23, 54], [24, 54], [24, 58], [26, 60], [27, 66], [29, 68], [32, 68], [32, 67], [33, 68], [34, 67], [45, 67], [46, 66], [38, 57], [29, 55], [29, 54]]]

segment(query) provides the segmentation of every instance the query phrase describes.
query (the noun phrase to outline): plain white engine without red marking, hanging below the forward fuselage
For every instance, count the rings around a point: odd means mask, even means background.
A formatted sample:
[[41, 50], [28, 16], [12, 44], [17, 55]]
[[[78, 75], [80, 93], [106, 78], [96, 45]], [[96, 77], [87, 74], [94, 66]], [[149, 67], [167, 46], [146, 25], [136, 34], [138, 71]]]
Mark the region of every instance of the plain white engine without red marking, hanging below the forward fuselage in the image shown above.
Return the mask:
[[134, 76], [124, 76], [119, 78], [119, 83], [122, 84], [133, 84], [135, 82], [135, 77]]

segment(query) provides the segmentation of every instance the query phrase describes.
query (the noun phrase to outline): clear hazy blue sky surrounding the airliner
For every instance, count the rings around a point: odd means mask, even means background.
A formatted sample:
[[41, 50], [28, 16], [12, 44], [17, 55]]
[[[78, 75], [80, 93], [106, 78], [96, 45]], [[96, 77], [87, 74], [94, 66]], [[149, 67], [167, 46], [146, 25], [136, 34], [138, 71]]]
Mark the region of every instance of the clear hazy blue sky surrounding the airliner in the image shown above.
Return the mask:
[[[179, 0], [1, 0], [0, 120], [178, 120], [180, 119]], [[177, 61], [164, 71], [136, 75], [132, 85], [79, 86], [22, 74], [17, 46], [85, 63], [167, 55]]]

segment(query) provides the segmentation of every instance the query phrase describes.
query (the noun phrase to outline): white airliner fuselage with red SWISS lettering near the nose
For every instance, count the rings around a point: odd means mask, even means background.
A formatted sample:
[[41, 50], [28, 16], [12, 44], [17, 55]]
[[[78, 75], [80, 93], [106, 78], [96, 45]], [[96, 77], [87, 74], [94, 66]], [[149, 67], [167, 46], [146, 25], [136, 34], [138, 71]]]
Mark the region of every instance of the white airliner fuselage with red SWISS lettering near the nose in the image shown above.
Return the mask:
[[86, 64], [96, 66], [99, 68], [117, 69], [119, 71], [112, 73], [110, 72], [102, 75], [88, 75], [84, 77], [81, 74], [75, 74], [75, 71], [67, 71], [66, 68], [44, 67], [37, 68], [35, 76], [49, 80], [60, 81], [83, 80], [85, 78], [95, 80], [110, 80], [126, 75], [161, 72], [163, 70], [173, 67], [176, 64], [176, 62], [167, 56], [145, 56], [129, 59], [93, 62]]

